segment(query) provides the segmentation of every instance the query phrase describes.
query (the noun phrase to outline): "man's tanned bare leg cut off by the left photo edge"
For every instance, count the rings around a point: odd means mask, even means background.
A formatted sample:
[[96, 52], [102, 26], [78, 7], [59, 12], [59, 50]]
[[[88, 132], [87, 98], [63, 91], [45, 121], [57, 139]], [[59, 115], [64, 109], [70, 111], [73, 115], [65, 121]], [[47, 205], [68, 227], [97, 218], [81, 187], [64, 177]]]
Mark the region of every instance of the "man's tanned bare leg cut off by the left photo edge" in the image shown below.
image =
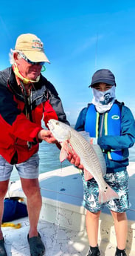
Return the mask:
[[0, 240], [3, 238], [3, 234], [1, 232], [1, 222], [3, 217], [4, 211], [4, 197], [7, 193], [9, 180], [0, 181]]

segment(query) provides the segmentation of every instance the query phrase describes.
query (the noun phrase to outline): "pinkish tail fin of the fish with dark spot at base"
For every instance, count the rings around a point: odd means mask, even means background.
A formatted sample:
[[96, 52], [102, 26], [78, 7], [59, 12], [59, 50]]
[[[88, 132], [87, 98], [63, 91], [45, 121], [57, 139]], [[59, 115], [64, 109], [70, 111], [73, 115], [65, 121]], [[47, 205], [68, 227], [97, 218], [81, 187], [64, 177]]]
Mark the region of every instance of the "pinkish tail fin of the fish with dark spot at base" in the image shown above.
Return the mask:
[[105, 188], [99, 188], [99, 202], [105, 203], [111, 199], [120, 198], [117, 192], [114, 191], [108, 184], [106, 183]]

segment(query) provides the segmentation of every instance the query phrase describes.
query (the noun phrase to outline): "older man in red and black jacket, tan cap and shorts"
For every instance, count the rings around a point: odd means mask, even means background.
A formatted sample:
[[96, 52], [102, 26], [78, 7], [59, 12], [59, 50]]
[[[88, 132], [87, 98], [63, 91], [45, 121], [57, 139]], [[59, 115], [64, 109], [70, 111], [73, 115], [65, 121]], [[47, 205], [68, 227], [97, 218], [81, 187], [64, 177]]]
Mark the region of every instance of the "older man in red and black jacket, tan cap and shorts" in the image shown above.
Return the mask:
[[[45, 247], [38, 233], [41, 192], [38, 183], [38, 147], [45, 140], [55, 143], [51, 132], [41, 127], [50, 118], [66, 120], [66, 114], [54, 86], [41, 75], [49, 62], [41, 39], [34, 34], [18, 36], [11, 50], [11, 67], [0, 72], [0, 219], [4, 211], [13, 165], [18, 170], [27, 197], [30, 231], [27, 235], [32, 256], [44, 255]], [[6, 256], [0, 229], [0, 255]]]

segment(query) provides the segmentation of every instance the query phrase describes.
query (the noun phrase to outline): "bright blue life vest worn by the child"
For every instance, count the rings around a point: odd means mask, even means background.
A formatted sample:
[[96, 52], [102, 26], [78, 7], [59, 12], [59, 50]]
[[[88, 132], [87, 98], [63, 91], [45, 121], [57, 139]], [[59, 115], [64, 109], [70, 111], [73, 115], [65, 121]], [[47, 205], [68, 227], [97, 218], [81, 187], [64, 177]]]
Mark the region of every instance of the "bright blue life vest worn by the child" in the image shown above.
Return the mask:
[[[89, 105], [86, 122], [85, 122], [85, 131], [89, 132], [90, 137], [99, 137], [99, 118], [100, 114], [96, 111], [96, 108], [93, 104]], [[105, 135], [120, 136], [121, 134], [121, 110], [120, 106], [117, 103], [112, 105], [111, 110], [104, 114], [103, 119], [103, 131]], [[110, 160], [122, 160], [122, 151], [111, 151], [107, 152], [108, 158]]]

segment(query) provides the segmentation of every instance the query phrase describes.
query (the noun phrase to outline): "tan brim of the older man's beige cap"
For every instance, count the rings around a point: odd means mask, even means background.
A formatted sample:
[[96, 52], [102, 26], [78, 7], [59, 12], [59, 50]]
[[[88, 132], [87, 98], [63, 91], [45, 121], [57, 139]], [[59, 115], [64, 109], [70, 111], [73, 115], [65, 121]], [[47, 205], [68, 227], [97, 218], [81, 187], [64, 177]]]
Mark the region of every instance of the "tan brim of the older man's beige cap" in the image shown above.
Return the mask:
[[22, 50], [22, 52], [27, 56], [27, 59], [30, 59], [32, 62], [49, 62], [49, 59], [46, 57], [46, 54], [41, 51], [33, 50]]

